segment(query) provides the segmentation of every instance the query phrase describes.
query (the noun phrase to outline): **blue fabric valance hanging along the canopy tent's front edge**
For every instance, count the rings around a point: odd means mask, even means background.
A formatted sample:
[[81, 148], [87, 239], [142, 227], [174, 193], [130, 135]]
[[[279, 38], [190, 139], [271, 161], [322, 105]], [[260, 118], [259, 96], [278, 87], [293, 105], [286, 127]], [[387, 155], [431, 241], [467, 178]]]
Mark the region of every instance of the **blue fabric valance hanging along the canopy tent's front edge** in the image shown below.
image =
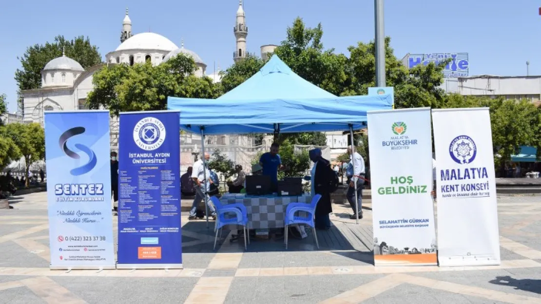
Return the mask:
[[388, 94], [327, 98], [197, 99], [168, 97], [182, 130], [205, 134], [346, 131], [366, 126], [366, 112], [392, 109]]

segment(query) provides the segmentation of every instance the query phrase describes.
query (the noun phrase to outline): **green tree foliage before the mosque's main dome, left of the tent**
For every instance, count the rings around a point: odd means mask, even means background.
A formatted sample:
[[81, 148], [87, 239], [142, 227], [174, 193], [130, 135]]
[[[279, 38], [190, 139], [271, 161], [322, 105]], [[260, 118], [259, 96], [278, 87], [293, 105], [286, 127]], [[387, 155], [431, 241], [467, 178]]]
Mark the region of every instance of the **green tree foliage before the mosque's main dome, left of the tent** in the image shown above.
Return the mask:
[[94, 74], [94, 90], [88, 94], [90, 109], [122, 111], [165, 110], [167, 97], [216, 98], [219, 86], [208, 77], [196, 77], [192, 57], [179, 54], [167, 62], [153, 66], [114, 64]]

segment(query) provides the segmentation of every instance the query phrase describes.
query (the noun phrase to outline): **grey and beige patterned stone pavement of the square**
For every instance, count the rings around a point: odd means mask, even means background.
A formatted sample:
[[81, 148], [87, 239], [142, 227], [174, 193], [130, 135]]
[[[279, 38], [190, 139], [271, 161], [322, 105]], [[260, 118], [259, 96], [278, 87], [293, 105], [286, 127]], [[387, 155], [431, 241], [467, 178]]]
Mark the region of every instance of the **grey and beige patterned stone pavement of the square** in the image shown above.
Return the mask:
[[0, 303], [541, 303], [541, 197], [500, 197], [502, 265], [458, 268], [375, 268], [368, 203], [360, 225], [334, 205], [320, 250], [309, 234], [244, 251], [225, 231], [214, 252], [212, 222], [184, 214], [184, 269], [50, 271], [45, 193], [12, 206], [0, 210]]

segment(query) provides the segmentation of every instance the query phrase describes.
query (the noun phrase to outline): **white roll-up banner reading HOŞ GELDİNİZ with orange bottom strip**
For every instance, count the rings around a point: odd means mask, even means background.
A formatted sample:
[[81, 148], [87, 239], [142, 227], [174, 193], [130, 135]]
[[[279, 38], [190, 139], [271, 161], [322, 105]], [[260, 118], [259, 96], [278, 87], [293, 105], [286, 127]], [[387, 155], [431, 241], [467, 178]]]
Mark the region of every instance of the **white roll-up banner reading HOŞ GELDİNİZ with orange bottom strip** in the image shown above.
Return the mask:
[[435, 265], [430, 109], [367, 117], [375, 265]]

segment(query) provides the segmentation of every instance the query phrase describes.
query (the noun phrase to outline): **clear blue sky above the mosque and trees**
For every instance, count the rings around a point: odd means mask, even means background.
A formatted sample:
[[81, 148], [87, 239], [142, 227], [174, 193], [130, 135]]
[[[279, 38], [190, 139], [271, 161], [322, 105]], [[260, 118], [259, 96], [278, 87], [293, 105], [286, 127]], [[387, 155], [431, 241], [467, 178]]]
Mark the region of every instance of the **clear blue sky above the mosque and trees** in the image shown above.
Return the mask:
[[[0, 93], [16, 110], [17, 56], [27, 46], [56, 35], [90, 37], [102, 58], [120, 44], [126, 7], [134, 33], [153, 31], [198, 53], [213, 71], [214, 62], [233, 63], [233, 25], [237, 0], [198, 1], [6, 1], [0, 10]], [[385, 35], [397, 57], [406, 53], [468, 52], [470, 75], [541, 75], [541, 16], [537, 1], [387, 0]], [[259, 55], [263, 44], [280, 44], [286, 28], [300, 16], [308, 26], [322, 23], [325, 48], [347, 47], [374, 38], [372, 0], [246, 0], [248, 51]]]

